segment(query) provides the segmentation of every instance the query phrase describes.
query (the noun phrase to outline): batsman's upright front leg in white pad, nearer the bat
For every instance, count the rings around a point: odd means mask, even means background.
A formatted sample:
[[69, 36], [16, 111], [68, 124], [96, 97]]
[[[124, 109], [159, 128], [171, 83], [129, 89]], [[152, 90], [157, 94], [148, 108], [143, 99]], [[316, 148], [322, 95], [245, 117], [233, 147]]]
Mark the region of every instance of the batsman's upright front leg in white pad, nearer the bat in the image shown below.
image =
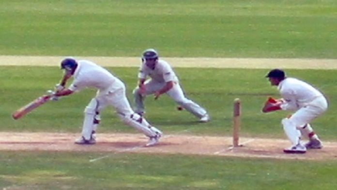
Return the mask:
[[84, 120], [82, 127], [82, 137], [78, 139], [75, 143], [77, 144], [94, 144], [96, 143], [95, 138], [92, 137], [94, 133], [94, 119], [96, 117], [97, 108], [99, 102], [96, 98], [92, 98], [88, 106], [84, 110]]

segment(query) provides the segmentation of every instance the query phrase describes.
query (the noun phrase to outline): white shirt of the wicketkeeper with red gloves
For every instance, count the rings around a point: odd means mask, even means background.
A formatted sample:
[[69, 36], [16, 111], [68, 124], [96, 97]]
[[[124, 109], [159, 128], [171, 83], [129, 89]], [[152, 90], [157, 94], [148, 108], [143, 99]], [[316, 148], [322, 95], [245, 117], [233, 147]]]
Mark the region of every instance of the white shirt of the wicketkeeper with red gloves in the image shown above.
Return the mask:
[[310, 84], [295, 78], [282, 80], [277, 89], [285, 101], [281, 106], [282, 110], [297, 110], [308, 105], [317, 97], [324, 97]]

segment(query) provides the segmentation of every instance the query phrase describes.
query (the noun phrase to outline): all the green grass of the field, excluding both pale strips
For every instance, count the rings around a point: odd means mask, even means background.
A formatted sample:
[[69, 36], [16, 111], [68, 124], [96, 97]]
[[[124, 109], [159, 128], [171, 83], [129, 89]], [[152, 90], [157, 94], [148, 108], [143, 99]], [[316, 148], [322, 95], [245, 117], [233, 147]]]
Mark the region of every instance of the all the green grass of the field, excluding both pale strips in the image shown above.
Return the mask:
[[[258, 57], [337, 59], [337, 2], [334, 0], [0, 0], [3, 55], [138, 56], [155, 47], [165, 57]], [[46, 60], [47, 61], [47, 60]], [[110, 67], [127, 85], [137, 68]], [[212, 115], [197, 124], [175, 111], [163, 96], [146, 100], [148, 119], [165, 133], [188, 129], [197, 135], [230, 135], [231, 105], [243, 102], [244, 136], [285, 138], [280, 126], [288, 113], [260, 113], [267, 96], [277, 96], [265, 69], [176, 68], [189, 97]], [[313, 122], [323, 140], [335, 141], [336, 71], [287, 70], [310, 81], [330, 101]], [[51, 102], [20, 121], [10, 114], [43, 94], [61, 78], [57, 67], [1, 66], [1, 131], [79, 132], [82, 111], [94, 95], [85, 92]], [[157, 105], [160, 104], [161, 107]], [[100, 132], [135, 132], [112, 109]], [[336, 160], [303, 161], [184, 155], [116, 153], [0, 152], [3, 190], [334, 190]]]

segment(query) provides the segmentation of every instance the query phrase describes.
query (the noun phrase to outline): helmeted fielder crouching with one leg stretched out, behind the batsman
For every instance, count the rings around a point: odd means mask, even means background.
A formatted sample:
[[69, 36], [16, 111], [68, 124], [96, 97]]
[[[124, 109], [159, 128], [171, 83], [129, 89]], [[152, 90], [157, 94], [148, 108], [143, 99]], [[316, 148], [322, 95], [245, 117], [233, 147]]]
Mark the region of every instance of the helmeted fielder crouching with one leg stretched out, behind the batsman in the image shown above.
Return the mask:
[[[166, 61], [158, 58], [157, 51], [146, 49], [142, 53], [141, 60], [142, 64], [138, 73], [138, 86], [133, 91], [136, 113], [143, 114], [145, 112], [145, 96], [154, 94], [154, 99], [156, 100], [160, 95], [167, 94], [182, 108], [198, 117], [200, 122], [210, 121], [210, 117], [205, 109], [185, 97], [172, 67]], [[146, 80], [147, 76], [151, 79]]]

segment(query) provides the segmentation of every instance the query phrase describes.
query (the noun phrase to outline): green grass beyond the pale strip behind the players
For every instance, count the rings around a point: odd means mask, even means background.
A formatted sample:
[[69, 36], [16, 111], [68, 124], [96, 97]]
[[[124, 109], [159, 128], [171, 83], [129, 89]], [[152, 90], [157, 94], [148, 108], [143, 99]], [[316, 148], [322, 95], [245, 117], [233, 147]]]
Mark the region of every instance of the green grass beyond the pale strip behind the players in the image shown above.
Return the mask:
[[0, 0], [0, 52], [337, 58], [336, 10], [336, 0]]

